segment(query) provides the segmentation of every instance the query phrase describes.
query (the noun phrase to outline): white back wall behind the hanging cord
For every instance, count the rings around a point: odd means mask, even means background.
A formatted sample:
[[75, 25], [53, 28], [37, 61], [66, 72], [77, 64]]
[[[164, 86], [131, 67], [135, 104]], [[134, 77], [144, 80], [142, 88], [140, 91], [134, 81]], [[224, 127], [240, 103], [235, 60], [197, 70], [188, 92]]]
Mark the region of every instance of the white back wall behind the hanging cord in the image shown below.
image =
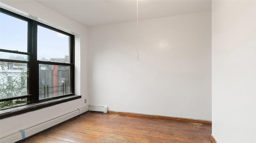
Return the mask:
[[211, 120], [211, 12], [88, 28], [90, 104]]

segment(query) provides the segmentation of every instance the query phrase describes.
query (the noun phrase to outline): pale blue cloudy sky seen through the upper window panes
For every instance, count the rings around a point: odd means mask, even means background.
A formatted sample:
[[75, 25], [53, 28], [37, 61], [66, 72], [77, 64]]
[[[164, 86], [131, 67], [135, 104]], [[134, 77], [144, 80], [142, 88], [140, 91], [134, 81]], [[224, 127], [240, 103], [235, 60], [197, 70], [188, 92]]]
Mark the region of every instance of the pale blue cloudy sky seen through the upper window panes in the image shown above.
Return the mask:
[[[0, 49], [27, 52], [28, 22], [0, 13]], [[38, 60], [45, 58], [64, 58], [69, 55], [69, 38], [67, 35], [41, 27], [38, 25]], [[0, 52], [0, 59], [10, 56], [27, 55]]]

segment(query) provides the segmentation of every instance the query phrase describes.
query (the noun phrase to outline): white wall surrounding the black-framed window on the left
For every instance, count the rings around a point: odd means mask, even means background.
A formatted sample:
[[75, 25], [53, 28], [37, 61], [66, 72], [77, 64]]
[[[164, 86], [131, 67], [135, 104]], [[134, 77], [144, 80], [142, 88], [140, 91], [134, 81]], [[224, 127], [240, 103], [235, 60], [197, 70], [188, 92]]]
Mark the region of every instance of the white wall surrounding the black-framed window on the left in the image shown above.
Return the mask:
[[[84, 104], [84, 99], [88, 99], [88, 60], [87, 60], [87, 28], [69, 18], [47, 8], [46, 6], [36, 2], [36, 1], [4, 1], [1, 0], [1, 7], [8, 8], [12, 6], [18, 10], [26, 12], [29, 14], [27, 17], [37, 20], [40, 18], [45, 24], [54, 26], [58, 29], [62, 29], [66, 32], [75, 35], [75, 94], [81, 95], [81, 99], [72, 100], [70, 102], [65, 102], [58, 104], [56, 106], [51, 106], [48, 108], [43, 108], [34, 112], [28, 112], [26, 114], [21, 114], [18, 116], [13, 116], [10, 118], [4, 118], [0, 120], [0, 136], [3, 137], [10, 133], [19, 131], [26, 127], [36, 125], [47, 121], [48, 119], [53, 119], [57, 116], [66, 114], [77, 108], [87, 106]], [[6, 6], [7, 4], [8, 6]], [[26, 14], [25, 14], [26, 15]], [[24, 15], [24, 16], [25, 16]], [[80, 62], [83, 61], [83, 62]], [[81, 88], [80, 88], [81, 87]]]

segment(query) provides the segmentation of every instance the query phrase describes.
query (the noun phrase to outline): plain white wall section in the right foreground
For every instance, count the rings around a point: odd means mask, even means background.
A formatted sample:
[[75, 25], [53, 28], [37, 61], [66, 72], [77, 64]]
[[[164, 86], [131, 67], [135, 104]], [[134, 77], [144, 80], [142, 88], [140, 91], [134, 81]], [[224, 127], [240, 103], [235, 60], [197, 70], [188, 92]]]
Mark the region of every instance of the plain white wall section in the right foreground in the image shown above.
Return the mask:
[[212, 1], [212, 134], [256, 143], [256, 1]]

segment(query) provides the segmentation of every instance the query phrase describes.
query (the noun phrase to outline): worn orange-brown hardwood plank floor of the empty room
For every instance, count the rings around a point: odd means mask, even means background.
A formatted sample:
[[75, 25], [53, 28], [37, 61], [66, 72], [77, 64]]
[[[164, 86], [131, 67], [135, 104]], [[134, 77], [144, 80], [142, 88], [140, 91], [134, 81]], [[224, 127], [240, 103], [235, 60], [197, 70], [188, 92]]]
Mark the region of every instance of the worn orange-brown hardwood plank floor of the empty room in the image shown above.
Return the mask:
[[212, 143], [209, 124], [86, 112], [22, 143]]

